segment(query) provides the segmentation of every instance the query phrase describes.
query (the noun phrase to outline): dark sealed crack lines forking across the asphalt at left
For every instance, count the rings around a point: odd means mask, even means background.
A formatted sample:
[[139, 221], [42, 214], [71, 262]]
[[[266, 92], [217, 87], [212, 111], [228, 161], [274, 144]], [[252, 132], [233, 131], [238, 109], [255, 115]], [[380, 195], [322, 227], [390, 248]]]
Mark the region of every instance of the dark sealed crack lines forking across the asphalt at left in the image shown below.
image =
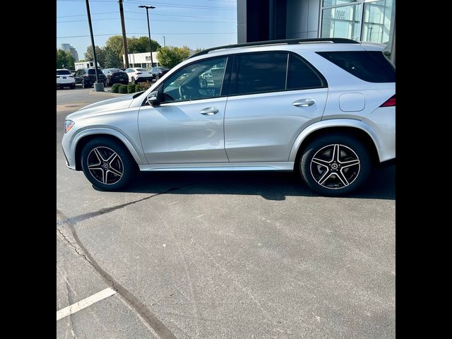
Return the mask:
[[91, 266], [93, 266], [93, 268], [96, 270], [96, 272], [100, 274], [102, 280], [104, 280], [105, 283], [107, 283], [107, 285], [109, 285], [109, 287], [112, 287], [113, 290], [117, 291], [118, 294], [121, 295], [121, 297], [123, 297], [124, 300], [126, 300], [126, 302], [143, 318], [143, 320], [146, 323], [148, 323], [148, 325], [153, 329], [153, 331], [155, 331], [155, 333], [157, 333], [157, 335], [159, 335], [160, 338], [162, 338], [162, 339], [176, 339], [176, 337], [169, 330], [169, 328], [167, 328], [167, 326], [165, 326], [165, 324], [162, 323], [162, 321], [160, 321], [157, 318], [157, 316], [155, 316], [155, 314], [153, 314], [153, 312], [151, 312], [148, 309], [148, 307], [145, 306], [145, 304], [143, 304], [143, 302], [141, 302], [137, 297], [135, 297], [135, 295], [133, 295], [129, 290], [127, 290], [126, 287], [121, 286], [116, 280], [114, 280], [112, 275], [109, 275], [109, 273], [107, 273], [102, 267], [99, 266], [97, 261], [95, 261], [93, 256], [91, 256], [88, 249], [86, 249], [86, 247], [81, 242], [81, 240], [78, 237], [78, 234], [76, 232], [76, 228], [74, 226], [76, 225], [76, 222], [79, 222], [81, 220], [87, 220], [90, 218], [94, 218], [98, 215], [109, 213], [114, 210], [118, 210], [119, 208], [124, 208], [126, 206], [132, 205], [133, 203], [139, 203], [141, 201], [148, 200], [155, 196], [160, 196], [161, 194], [166, 194], [170, 191], [182, 189], [183, 187], [189, 186], [191, 184], [193, 184], [193, 183], [186, 184], [184, 186], [175, 187], [172, 189], [168, 189], [165, 192], [153, 194], [152, 196], [147, 196], [145, 198], [141, 198], [136, 201], [131, 201], [129, 203], [123, 203], [121, 205], [117, 205], [117, 206], [113, 206], [113, 207], [109, 207], [109, 208], [102, 208], [96, 212], [78, 215], [74, 218], [67, 218], [66, 215], [64, 215], [64, 213], [61, 212], [61, 210], [57, 209], [57, 215], [59, 215], [59, 217], [61, 218], [61, 220], [59, 222], [57, 222], [57, 226], [63, 225], [63, 224], [66, 224], [69, 226], [69, 230], [71, 230], [71, 232], [72, 232], [73, 239], [75, 239], [76, 244], [78, 244], [78, 246], [82, 249], [83, 253], [80, 253], [80, 251], [78, 251], [77, 247], [57, 227], [59, 234], [61, 234], [61, 236], [64, 237], [64, 239], [66, 240], [66, 242], [68, 242], [73, 247], [73, 249], [76, 251], [78, 256], [81, 256], [82, 258], [85, 259], [85, 261], [87, 261]]

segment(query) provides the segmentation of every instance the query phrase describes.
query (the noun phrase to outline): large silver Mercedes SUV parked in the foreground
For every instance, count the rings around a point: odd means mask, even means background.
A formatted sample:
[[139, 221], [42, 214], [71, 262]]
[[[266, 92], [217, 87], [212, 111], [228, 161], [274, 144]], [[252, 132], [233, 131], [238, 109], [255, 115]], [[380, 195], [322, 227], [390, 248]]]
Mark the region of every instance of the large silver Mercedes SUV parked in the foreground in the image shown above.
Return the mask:
[[273, 40], [194, 54], [145, 92], [69, 114], [69, 168], [121, 189], [140, 171], [295, 171], [319, 194], [396, 158], [396, 71], [384, 46]]

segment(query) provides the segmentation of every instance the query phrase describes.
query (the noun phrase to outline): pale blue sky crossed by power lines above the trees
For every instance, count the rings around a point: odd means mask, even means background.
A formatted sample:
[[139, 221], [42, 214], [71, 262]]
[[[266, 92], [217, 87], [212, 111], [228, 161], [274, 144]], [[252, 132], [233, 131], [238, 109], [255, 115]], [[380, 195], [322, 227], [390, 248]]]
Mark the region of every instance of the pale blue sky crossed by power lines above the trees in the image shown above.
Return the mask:
[[[121, 35], [117, 0], [90, 0], [94, 42], [105, 46], [111, 35]], [[208, 48], [237, 43], [236, 0], [124, 0], [127, 37], [148, 36], [145, 8], [149, 9], [150, 37], [161, 46]], [[84, 59], [90, 46], [85, 0], [57, 0], [57, 49], [62, 43], [76, 48]]]

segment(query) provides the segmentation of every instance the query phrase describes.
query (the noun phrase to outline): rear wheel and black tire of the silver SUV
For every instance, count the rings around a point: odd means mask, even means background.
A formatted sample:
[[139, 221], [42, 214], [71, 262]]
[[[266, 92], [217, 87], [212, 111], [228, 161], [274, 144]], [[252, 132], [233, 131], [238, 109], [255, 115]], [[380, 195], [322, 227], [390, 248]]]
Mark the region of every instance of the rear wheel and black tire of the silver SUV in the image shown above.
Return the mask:
[[323, 196], [350, 194], [366, 181], [370, 169], [369, 150], [357, 138], [340, 133], [311, 141], [299, 161], [303, 181]]

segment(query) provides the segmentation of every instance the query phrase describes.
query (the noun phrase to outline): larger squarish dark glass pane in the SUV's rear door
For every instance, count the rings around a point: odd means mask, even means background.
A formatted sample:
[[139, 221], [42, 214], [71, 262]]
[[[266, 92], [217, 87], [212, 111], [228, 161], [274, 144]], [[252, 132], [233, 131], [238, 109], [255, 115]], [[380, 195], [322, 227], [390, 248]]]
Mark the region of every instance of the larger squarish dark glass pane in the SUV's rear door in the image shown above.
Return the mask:
[[285, 90], [287, 53], [237, 56], [237, 94]]

